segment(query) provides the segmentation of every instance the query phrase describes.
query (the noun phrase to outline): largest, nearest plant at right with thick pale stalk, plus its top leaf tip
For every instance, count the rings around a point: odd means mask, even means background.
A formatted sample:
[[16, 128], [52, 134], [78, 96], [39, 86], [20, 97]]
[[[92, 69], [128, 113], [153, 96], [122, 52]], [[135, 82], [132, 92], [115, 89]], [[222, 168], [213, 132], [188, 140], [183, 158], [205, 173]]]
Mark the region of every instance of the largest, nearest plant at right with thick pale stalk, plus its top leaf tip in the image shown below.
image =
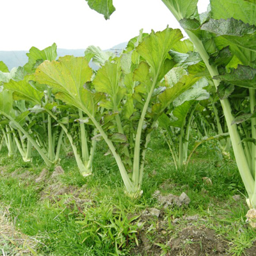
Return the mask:
[[[109, 19], [112, 1], [88, 1], [90, 8]], [[237, 167], [248, 193], [249, 207], [256, 207], [256, 1], [210, 0], [207, 12], [198, 13], [198, 0], [162, 0], [189, 36], [195, 51], [179, 47], [170, 55], [189, 74], [204, 76], [220, 97]], [[184, 42], [184, 41], [183, 41]], [[184, 51], [183, 51], [184, 50]], [[214, 111], [216, 111], [214, 109]], [[218, 118], [218, 130], [225, 129]], [[229, 141], [221, 143], [229, 147]]]

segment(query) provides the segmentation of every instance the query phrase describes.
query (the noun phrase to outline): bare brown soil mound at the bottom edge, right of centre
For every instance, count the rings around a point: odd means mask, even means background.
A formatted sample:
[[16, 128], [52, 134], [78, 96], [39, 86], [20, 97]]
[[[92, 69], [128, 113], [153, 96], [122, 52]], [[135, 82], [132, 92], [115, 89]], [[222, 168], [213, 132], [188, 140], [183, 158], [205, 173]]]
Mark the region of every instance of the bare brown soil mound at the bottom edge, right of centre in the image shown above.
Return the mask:
[[163, 244], [163, 246], [167, 248], [166, 256], [229, 255], [227, 253], [228, 243], [224, 241], [223, 237], [218, 236], [214, 230], [209, 228], [198, 228], [195, 226], [185, 227], [177, 236], [172, 238], [170, 238], [170, 236], [164, 236], [164, 232], [164, 229], [160, 228], [155, 237], [154, 244], [150, 243], [147, 232], [141, 232], [141, 243], [140, 246], [134, 249], [134, 253], [158, 256], [163, 253], [159, 244]]

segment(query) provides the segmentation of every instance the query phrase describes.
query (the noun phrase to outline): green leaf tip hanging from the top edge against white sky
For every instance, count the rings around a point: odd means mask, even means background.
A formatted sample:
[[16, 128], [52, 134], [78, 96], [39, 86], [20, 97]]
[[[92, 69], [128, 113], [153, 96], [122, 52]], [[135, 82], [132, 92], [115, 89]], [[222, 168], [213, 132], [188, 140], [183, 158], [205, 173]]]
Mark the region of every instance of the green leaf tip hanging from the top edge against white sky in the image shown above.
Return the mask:
[[106, 20], [110, 15], [115, 12], [115, 6], [113, 6], [112, 0], [86, 0], [92, 10], [104, 15]]

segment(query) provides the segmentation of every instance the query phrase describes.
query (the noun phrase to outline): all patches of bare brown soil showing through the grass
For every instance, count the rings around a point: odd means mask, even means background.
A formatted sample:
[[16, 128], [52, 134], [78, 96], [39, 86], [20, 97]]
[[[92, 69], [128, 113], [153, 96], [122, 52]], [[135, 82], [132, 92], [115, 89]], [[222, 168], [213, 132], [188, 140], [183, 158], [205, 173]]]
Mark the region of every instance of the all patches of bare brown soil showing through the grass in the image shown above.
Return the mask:
[[[1, 175], [13, 175], [13, 173], [7, 173], [4, 169], [0, 171]], [[19, 179], [26, 179], [29, 181], [35, 180], [35, 183], [40, 187], [40, 200], [42, 201], [50, 200], [54, 202], [54, 200], [58, 200], [61, 196], [67, 195], [64, 204], [66, 204], [67, 207], [74, 207], [74, 205], [76, 205], [81, 212], [84, 205], [93, 204], [93, 195], [88, 191], [88, 189], [86, 189], [86, 186], [77, 188], [76, 186], [67, 186], [62, 184], [60, 179], [58, 179], [58, 175], [62, 174], [62, 172], [59, 171], [54, 173], [54, 175], [49, 173], [46, 169], [42, 170], [40, 175], [33, 175], [28, 171], [19, 173], [19, 170], [14, 173], [15, 177], [19, 177]], [[167, 182], [164, 184], [164, 187], [166, 186], [168, 186]], [[176, 186], [176, 184], [172, 184], [172, 186]], [[157, 214], [152, 214], [153, 210], [154, 212], [157, 212]], [[178, 221], [173, 220], [175, 228], [172, 232], [168, 232], [168, 221], [164, 220], [163, 211], [148, 209], [146, 212], [148, 212], [148, 214], [141, 212], [141, 221], [145, 222], [145, 226], [138, 233], [138, 239], [140, 241], [139, 246], [135, 246], [134, 249], [132, 249], [131, 254], [134, 253], [134, 255], [141, 256], [160, 256], [164, 252], [162, 248], [164, 247], [166, 248], [165, 250], [167, 250], [165, 254], [166, 256], [230, 255], [228, 254], [229, 244], [228, 241], [225, 241], [225, 237], [221, 237], [214, 230], [205, 227], [204, 223], [199, 224], [200, 221], [198, 216], [185, 218], [185, 220], [189, 221], [186, 227], [180, 225], [178, 219], [175, 219]], [[3, 225], [3, 216], [4, 214], [2, 214], [2, 223], [0, 218], [1, 225]], [[150, 218], [155, 217], [158, 218], [158, 221], [157, 227], [154, 229], [149, 223]], [[195, 225], [193, 221], [197, 224]], [[12, 226], [12, 223], [8, 221], [5, 221], [5, 223], [8, 223], [8, 226], [10, 227]], [[154, 229], [154, 231], [151, 229]], [[177, 232], [177, 230], [179, 231]], [[152, 236], [152, 234], [154, 234], [154, 236]], [[33, 244], [33, 246], [35, 246], [35, 244]], [[253, 243], [252, 248], [245, 251], [244, 255], [256, 256], [256, 241]]]

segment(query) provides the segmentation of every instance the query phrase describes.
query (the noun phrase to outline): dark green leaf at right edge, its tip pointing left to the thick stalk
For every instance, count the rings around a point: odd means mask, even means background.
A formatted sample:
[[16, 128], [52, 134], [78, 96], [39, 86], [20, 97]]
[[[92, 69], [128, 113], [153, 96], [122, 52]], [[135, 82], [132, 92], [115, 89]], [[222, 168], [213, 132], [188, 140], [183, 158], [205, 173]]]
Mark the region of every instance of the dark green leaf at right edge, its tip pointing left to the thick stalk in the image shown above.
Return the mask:
[[256, 88], [256, 69], [248, 66], [238, 65], [230, 73], [214, 76], [213, 78], [245, 88]]

